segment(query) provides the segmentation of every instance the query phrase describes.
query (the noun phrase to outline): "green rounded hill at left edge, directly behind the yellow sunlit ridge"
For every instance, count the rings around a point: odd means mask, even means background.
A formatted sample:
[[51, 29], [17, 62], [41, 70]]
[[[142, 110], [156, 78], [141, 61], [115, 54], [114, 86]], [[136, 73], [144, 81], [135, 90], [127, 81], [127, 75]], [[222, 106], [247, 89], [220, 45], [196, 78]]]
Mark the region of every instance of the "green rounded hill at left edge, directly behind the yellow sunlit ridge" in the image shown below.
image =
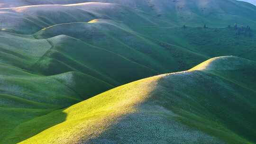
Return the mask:
[[1, 140], [28, 120], [113, 88], [78, 72], [43, 76], [5, 64], [0, 69]]

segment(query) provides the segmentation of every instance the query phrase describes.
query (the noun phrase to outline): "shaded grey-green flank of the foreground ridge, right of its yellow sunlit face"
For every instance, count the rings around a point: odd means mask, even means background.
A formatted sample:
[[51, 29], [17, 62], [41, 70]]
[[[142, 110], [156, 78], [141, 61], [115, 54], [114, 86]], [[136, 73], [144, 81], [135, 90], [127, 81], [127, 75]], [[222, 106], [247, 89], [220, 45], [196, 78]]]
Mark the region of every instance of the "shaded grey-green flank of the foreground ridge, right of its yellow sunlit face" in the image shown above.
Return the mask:
[[[254, 79], [244, 71], [231, 73], [247, 76], [244, 85]], [[201, 71], [172, 74], [157, 83], [136, 112], [119, 117], [103, 133], [80, 144], [256, 142], [254, 91]], [[146, 103], [150, 105], [143, 108]]]

